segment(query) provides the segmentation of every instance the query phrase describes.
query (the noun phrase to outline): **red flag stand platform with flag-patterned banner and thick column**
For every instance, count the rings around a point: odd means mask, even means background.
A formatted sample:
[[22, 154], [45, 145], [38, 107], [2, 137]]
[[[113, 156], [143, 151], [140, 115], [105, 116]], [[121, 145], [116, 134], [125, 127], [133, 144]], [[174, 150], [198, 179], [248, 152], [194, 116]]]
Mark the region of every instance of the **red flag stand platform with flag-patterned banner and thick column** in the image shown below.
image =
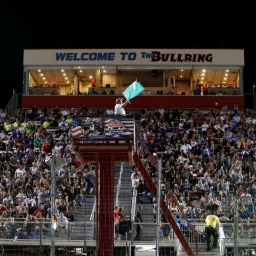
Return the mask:
[[79, 161], [95, 163], [97, 255], [113, 256], [114, 164], [132, 164], [134, 117], [77, 116], [73, 121], [73, 145]]

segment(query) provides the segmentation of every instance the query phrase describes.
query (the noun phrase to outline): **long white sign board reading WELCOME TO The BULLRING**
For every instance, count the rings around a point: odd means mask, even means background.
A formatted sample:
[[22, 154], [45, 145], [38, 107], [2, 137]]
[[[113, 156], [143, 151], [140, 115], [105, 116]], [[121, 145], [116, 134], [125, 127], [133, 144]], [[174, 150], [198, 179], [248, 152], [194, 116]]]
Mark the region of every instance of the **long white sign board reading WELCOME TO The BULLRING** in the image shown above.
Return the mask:
[[244, 50], [55, 49], [24, 50], [24, 66], [244, 66]]

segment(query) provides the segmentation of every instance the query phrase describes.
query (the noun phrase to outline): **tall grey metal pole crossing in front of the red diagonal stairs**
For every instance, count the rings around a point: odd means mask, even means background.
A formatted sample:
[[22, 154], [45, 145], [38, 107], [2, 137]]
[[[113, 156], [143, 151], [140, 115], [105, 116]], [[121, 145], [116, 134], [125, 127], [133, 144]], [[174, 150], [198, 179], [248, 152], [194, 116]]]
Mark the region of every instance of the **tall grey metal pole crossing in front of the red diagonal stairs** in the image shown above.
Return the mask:
[[162, 176], [162, 159], [157, 159], [157, 196], [156, 196], [156, 256], [159, 256], [159, 228], [160, 228], [160, 201], [161, 201], [161, 176]]

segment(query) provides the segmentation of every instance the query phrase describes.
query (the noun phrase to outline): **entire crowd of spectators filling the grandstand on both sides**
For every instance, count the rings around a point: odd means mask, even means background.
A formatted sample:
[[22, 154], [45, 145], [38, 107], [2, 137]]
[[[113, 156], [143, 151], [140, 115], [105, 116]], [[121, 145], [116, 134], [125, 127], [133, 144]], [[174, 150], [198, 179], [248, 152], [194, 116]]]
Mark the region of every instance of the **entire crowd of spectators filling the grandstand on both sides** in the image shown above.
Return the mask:
[[[62, 111], [43, 106], [38, 111], [34, 105], [15, 114], [0, 109], [0, 228], [8, 226], [5, 222], [10, 226], [10, 218], [49, 218], [51, 175], [45, 158], [52, 153], [65, 159], [56, 170], [56, 214], [74, 221], [77, 205], [94, 193], [95, 165], [79, 163], [71, 138], [74, 117], [88, 113], [85, 106]], [[113, 114], [113, 109], [91, 114]], [[251, 202], [256, 191], [255, 124], [256, 115], [238, 106], [209, 111], [160, 106], [141, 111], [142, 137], [155, 159], [161, 154], [163, 175], [188, 218], [204, 218], [210, 210], [227, 218], [234, 213], [235, 196], [241, 196], [240, 218], [256, 219]], [[156, 180], [156, 167], [142, 145], [138, 154]], [[131, 186], [138, 189], [141, 203], [155, 203], [137, 168]], [[178, 216], [164, 183], [161, 189], [169, 210]], [[223, 203], [230, 206], [230, 213], [223, 210]]]

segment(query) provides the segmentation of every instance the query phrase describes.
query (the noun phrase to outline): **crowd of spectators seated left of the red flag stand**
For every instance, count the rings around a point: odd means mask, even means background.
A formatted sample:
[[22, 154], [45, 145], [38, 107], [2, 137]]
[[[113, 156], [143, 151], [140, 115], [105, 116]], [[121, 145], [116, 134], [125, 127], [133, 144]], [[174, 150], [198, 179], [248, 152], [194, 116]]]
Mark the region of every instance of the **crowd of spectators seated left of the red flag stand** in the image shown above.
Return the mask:
[[[71, 137], [74, 116], [87, 111], [85, 106], [80, 110], [62, 111], [58, 106], [51, 110], [44, 106], [38, 111], [34, 105], [31, 110], [21, 108], [15, 114], [0, 109], [2, 231], [8, 230], [14, 220], [45, 221], [50, 218], [51, 172], [45, 159], [51, 154], [65, 159], [65, 164], [55, 171], [55, 214], [58, 220], [75, 220], [78, 205], [83, 205], [85, 197], [94, 193], [95, 165], [81, 165]], [[31, 236], [34, 237], [34, 233]]]

